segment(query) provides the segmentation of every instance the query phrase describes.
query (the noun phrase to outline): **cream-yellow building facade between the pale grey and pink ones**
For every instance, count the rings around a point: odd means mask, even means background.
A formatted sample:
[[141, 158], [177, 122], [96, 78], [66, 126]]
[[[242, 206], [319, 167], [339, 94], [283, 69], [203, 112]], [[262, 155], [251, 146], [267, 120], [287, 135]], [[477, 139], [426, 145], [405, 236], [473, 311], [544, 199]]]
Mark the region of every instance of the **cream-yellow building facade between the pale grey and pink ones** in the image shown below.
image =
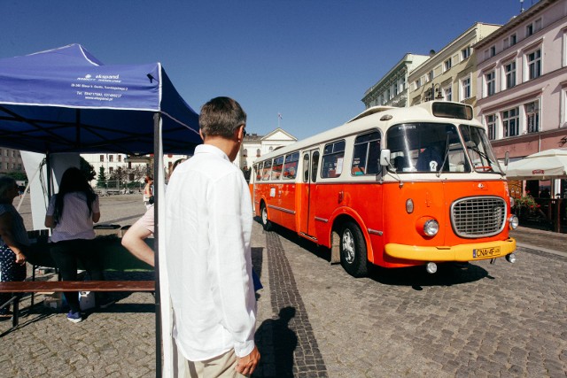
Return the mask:
[[409, 104], [435, 98], [476, 106], [477, 64], [473, 45], [500, 27], [477, 22], [439, 52], [431, 51], [431, 58], [408, 75]]

